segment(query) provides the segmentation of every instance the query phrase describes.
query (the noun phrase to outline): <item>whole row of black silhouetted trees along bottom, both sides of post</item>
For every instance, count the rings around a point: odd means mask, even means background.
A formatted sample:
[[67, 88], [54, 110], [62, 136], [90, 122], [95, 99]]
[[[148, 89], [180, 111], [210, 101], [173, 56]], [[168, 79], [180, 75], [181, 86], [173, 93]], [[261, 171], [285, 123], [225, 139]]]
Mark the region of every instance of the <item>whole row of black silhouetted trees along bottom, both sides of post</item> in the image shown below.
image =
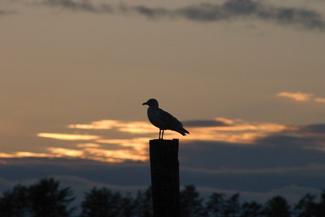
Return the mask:
[[[93, 187], [85, 192], [81, 213], [71, 203], [75, 196], [71, 187], [60, 187], [58, 180], [41, 179], [30, 186], [16, 185], [0, 197], [0, 217], [151, 217], [152, 192], [149, 187], [121, 194], [105, 187]], [[167, 207], [168, 208], [168, 207]], [[297, 204], [290, 206], [282, 196], [266, 203], [239, 202], [239, 194], [226, 196], [212, 193], [207, 199], [200, 197], [193, 185], [180, 191], [181, 217], [324, 217], [325, 190], [316, 200], [306, 194]], [[166, 216], [167, 217], [167, 216]]]

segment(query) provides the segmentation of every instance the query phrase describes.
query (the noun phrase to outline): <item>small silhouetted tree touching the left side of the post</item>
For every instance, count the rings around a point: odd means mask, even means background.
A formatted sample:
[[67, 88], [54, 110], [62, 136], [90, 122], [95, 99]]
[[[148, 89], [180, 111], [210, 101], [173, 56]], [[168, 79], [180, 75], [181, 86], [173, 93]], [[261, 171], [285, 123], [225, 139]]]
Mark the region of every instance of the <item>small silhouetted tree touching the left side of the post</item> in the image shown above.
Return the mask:
[[135, 199], [136, 216], [138, 217], [152, 217], [152, 189], [149, 187], [145, 192], [138, 191]]

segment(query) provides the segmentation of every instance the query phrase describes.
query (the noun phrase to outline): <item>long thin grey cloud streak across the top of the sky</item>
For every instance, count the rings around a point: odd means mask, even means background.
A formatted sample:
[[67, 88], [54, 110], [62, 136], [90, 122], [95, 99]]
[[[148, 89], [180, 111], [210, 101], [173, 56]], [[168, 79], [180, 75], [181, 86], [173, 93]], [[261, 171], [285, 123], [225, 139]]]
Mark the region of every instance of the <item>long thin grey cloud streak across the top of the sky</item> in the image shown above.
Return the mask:
[[178, 9], [130, 6], [126, 4], [116, 6], [106, 3], [97, 6], [87, 0], [44, 0], [43, 4], [94, 13], [138, 14], [149, 19], [169, 17], [200, 22], [213, 22], [250, 17], [252, 19], [273, 21], [276, 24], [294, 25], [304, 29], [325, 30], [323, 16], [314, 10], [273, 7], [265, 5], [262, 1], [228, 0], [223, 4], [203, 3]]

